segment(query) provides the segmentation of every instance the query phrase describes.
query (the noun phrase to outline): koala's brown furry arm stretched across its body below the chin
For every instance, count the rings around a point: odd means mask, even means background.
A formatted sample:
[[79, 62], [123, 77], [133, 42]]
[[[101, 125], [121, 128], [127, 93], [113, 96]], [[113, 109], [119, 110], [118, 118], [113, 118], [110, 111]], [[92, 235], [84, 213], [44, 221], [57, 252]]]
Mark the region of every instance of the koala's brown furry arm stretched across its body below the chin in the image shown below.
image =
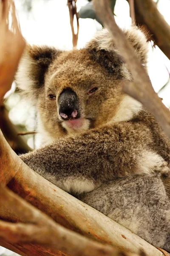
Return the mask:
[[149, 128], [122, 122], [91, 129], [21, 155], [34, 171], [68, 192], [88, 192], [112, 180], [159, 169]]

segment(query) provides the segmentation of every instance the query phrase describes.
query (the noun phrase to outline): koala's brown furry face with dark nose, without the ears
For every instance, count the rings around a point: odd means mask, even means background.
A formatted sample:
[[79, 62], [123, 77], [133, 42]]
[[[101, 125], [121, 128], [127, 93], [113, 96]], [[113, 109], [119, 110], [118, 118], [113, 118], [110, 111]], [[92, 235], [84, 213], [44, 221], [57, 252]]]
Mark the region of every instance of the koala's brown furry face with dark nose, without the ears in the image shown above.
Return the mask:
[[121, 99], [121, 78], [94, 63], [86, 49], [61, 54], [37, 99], [43, 124], [74, 134], [108, 122]]

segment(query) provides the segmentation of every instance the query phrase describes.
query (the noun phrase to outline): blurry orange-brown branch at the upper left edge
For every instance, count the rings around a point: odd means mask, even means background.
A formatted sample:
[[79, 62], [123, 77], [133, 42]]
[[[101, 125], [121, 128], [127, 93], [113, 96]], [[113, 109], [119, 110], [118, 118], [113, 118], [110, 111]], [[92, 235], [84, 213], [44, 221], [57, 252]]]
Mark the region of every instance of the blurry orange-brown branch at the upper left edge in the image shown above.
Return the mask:
[[17, 21], [14, 2], [11, 0], [0, 1], [0, 35], [1, 100], [6, 91], [11, 88], [20, 57], [26, 46]]

